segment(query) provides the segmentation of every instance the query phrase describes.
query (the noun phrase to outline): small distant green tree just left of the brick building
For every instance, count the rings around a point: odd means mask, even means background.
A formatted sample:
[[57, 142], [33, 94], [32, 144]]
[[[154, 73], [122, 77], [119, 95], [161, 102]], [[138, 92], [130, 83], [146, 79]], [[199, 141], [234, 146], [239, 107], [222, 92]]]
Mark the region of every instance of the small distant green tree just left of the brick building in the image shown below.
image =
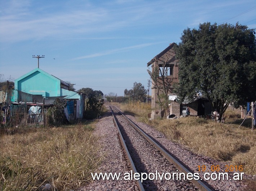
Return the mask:
[[133, 83], [133, 88], [130, 90], [125, 89], [124, 94], [132, 97], [134, 101], [143, 102], [146, 97], [147, 90], [144, 88], [144, 85], [135, 81]]

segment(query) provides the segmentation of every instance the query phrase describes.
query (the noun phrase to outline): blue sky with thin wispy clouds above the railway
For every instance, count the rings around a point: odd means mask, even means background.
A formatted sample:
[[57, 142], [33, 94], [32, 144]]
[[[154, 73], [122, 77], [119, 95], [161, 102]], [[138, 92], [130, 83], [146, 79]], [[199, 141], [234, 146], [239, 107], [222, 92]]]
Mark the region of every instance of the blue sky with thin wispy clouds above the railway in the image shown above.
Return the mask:
[[76, 90], [147, 88], [147, 62], [199, 23], [256, 28], [255, 0], [0, 0], [0, 74], [37, 67]]

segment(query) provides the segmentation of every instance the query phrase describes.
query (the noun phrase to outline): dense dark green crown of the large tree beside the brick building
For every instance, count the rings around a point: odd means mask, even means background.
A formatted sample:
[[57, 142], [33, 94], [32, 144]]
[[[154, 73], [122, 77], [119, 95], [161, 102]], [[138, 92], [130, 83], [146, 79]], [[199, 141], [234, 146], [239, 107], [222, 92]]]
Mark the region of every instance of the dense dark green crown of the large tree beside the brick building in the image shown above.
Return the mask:
[[185, 29], [176, 47], [179, 59], [180, 101], [206, 96], [212, 110], [222, 114], [256, 99], [256, 41], [254, 29], [245, 25], [203, 23]]

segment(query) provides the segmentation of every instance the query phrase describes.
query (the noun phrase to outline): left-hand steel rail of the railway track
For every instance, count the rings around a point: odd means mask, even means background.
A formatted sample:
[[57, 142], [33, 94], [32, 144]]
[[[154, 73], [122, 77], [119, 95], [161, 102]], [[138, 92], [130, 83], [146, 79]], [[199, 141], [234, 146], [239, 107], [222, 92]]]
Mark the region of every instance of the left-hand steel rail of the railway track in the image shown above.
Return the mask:
[[[126, 156], [127, 156], [127, 158], [128, 158], [128, 161], [129, 161], [129, 163], [131, 164], [132, 170], [133, 170], [134, 174], [135, 174], [135, 173], [138, 173], [138, 172], [137, 172], [137, 169], [136, 169], [136, 167], [135, 167], [135, 165], [134, 165], [134, 163], [133, 163], [132, 157], [131, 157], [131, 155], [130, 155], [128, 149], [127, 149], [127, 146], [126, 146], [126, 144], [125, 144], [125, 142], [124, 142], [124, 138], [123, 138], [122, 133], [121, 133], [121, 131], [120, 131], [120, 129], [119, 129], [119, 126], [118, 126], [118, 124], [117, 124], [117, 122], [116, 122], [116, 119], [115, 119], [114, 113], [113, 113], [113, 111], [112, 111], [112, 109], [111, 109], [111, 106], [109, 106], [109, 109], [110, 109], [110, 111], [111, 111], [111, 113], [112, 113], [115, 126], [117, 127], [118, 132], [119, 132], [119, 138], [120, 138], [120, 140], [121, 140], [121, 144], [122, 144], [122, 146], [123, 146], [123, 148], [124, 148], [124, 151], [125, 151], [125, 154], [126, 154]], [[117, 109], [116, 109], [116, 110], [117, 110]], [[119, 112], [119, 110], [117, 110], [117, 111]], [[136, 180], [136, 183], [137, 183], [137, 186], [138, 186], [138, 188], [139, 188], [140, 191], [145, 191], [145, 189], [144, 189], [144, 187], [143, 187], [143, 185], [142, 185], [140, 179], [139, 179], [139, 180]]]

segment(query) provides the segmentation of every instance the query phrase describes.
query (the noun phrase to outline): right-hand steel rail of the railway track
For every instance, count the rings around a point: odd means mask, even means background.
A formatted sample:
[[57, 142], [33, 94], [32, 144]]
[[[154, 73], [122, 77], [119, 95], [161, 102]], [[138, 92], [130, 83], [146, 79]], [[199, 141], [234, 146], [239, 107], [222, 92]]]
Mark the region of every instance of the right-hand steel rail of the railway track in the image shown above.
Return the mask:
[[[191, 173], [186, 167], [184, 167], [178, 160], [173, 158], [169, 153], [167, 153], [160, 145], [158, 145], [153, 139], [151, 139], [144, 131], [140, 129], [136, 124], [134, 124], [127, 116], [125, 116], [122, 112], [120, 112], [115, 106], [113, 106], [121, 115], [123, 115], [129, 122], [130, 124], [138, 131], [140, 134], [147, 140], [149, 143], [153, 144], [156, 149], [158, 149], [162, 155], [169, 160], [169, 162], [173, 163], [176, 168], [180, 171], [183, 172], [187, 175], [187, 173]], [[193, 173], [191, 173], [193, 174]], [[191, 182], [194, 183], [195, 186], [199, 188], [201, 191], [211, 191], [209, 187], [207, 187], [202, 181], [200, 180], [195, 180], [194, 178], [190, 180]]]

